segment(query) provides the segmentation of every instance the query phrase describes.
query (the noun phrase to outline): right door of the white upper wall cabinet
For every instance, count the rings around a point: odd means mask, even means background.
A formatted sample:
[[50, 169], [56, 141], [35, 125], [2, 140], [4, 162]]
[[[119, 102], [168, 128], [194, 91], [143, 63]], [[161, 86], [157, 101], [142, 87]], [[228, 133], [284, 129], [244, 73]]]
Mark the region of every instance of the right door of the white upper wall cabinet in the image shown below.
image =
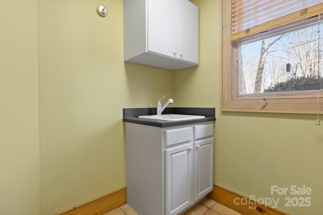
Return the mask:
[[198, 63], [198, 7], [178, 0], [177, 54], [179, 59]]

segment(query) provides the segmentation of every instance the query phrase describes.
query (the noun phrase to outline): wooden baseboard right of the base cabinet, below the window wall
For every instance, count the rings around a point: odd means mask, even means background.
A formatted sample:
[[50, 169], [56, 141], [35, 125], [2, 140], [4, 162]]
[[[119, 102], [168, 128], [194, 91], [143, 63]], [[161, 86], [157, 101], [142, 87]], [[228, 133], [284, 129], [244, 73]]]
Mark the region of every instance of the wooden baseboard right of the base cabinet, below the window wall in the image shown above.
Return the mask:
[[[290, 215], [289, 213], [283, 212], [271, 206], [259, 204], [246, 196], [240, 195], [239, 193], [233, 192], [218, 185], [213, 186], [213, 191], [207, 194], [207, 197], [244, 215]], [[239, 200], [241, 199], [243, 199], [243, 204], [235, 203], [240, 202]]]

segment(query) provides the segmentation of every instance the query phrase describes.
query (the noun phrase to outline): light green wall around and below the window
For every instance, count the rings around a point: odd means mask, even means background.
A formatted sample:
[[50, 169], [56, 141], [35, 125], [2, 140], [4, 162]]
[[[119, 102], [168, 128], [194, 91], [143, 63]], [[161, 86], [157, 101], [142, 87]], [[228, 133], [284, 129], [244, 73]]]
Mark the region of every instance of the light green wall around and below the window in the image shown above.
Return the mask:
[[[200, 11], [199, 66], [174, 73], [174, 100], [217, 108], [214, 183], [256, 199], [279, 198], [277, 207], [293, 215], [323, 214], [323, 127], [316, 115], [222, 112], [221, 1], [192, 2]], [[272, 195], [271, 185], [305, 185], [312, 193]], [[285, 197], [310, 197], [311, 206], [284, 206]]]

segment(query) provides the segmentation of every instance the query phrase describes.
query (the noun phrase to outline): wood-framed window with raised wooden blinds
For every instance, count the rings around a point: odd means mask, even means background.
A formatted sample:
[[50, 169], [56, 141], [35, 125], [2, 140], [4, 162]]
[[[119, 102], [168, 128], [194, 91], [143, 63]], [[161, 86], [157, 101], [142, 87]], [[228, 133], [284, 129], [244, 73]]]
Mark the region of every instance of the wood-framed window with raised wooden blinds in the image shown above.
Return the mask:
[[222, 110], [323, 112], [320, 1], [222, 2]]

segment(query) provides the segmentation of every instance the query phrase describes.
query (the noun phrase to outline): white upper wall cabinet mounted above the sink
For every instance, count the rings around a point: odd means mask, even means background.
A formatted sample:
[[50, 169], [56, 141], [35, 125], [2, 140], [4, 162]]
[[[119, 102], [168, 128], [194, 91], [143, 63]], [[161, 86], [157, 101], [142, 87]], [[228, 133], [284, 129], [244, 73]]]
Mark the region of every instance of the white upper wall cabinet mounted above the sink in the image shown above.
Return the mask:
[[198, 65], [198, 7], [188, 0], [124, 0], [124, 60], [170, 70]]

